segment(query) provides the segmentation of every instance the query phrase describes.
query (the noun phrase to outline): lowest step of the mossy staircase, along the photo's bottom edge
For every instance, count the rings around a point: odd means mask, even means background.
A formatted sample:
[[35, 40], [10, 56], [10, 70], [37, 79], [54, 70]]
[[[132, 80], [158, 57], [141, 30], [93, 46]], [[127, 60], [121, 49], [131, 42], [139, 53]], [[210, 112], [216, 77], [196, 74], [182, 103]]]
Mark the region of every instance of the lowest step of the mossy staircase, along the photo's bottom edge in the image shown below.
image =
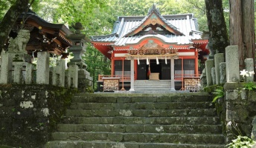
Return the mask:
[[44, 148], [223, 148], [223, 144], [171, 144], [112, 141], [49, 141]]

